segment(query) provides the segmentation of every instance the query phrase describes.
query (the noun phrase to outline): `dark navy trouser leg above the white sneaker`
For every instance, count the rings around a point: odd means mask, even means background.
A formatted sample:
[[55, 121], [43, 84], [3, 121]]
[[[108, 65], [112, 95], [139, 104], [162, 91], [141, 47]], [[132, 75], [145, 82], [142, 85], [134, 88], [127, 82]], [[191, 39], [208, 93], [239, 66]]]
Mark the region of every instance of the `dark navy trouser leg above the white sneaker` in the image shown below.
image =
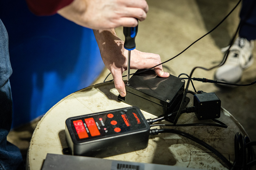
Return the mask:
[[241, 27], [239, 36], [248, 41], [256, 39], [256, 2], [255, 0], [243, 0], [240, 11]]

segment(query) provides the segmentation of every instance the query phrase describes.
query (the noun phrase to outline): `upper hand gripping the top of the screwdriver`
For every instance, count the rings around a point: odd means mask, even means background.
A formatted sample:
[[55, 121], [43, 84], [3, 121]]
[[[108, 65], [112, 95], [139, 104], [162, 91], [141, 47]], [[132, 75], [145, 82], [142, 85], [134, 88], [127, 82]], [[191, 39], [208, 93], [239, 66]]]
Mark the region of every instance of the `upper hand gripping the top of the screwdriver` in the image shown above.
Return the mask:
[[146, 0], [74, 0], [57, 11], [64, 18], [92, 29], [135, 27], [135, 18], [143, 21], [147, 12]]

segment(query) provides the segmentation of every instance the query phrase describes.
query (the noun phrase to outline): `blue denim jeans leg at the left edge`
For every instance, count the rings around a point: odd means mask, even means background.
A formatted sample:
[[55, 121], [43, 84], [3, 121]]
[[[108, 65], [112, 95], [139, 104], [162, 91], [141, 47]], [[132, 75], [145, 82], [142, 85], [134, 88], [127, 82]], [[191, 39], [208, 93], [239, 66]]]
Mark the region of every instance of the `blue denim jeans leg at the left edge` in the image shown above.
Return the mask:
[[0, 170], [24, 169], [19, 148], [6, 138], [12, 123], [11, 74], [8, 35], [0, 19]]

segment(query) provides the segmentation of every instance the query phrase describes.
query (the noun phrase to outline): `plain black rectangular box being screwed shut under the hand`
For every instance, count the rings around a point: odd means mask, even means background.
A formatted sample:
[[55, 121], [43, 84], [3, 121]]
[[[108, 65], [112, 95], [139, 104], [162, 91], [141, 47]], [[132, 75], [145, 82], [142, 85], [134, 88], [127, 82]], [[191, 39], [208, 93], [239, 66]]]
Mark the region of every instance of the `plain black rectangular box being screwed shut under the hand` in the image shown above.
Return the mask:
[[[155, 116], [176, 111], [181, 103], [185, 80], [173, 75], [163, 78], [157, 76], [154, 70], [137, 74], [140, 71], [131, 76], [129, 85], [126, 84], [126, 96], [119, 95], [118, 99]], [[186, 97], [183, 106], [188, 102]]]

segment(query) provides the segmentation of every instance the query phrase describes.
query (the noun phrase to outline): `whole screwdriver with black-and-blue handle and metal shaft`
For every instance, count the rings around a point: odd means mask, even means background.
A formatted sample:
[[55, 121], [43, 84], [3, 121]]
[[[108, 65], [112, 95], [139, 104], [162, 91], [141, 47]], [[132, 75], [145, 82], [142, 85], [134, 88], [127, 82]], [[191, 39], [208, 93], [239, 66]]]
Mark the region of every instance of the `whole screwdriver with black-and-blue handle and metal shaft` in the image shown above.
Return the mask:
[[126, 84], [129, 85], [130, 79], [130, 58], [131, 50], [136, 48], [135, 37], [138, 32], [138, 25], [136, 27], [123, 27], [123, 34], [125, 35], [124, 48], [128, 50], [128, 62], [127, 62], [127, 78]]

